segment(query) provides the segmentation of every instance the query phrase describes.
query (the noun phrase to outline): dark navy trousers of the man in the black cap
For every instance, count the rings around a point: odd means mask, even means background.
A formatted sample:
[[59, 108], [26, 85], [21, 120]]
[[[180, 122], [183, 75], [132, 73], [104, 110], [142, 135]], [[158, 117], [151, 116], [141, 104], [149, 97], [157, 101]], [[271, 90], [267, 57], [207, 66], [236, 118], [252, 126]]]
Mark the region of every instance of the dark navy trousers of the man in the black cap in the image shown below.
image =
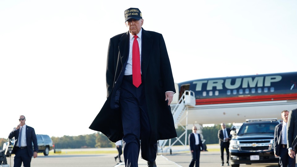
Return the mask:
[[157, 141], [150, 143], [151, 128], [144, 93], [144, 84], [136, 88], [123, 79], [120, 92], [123, 122], [125, 166], [138, 166], [141, 140], [141, 158], [153, 162], [157, 156]]

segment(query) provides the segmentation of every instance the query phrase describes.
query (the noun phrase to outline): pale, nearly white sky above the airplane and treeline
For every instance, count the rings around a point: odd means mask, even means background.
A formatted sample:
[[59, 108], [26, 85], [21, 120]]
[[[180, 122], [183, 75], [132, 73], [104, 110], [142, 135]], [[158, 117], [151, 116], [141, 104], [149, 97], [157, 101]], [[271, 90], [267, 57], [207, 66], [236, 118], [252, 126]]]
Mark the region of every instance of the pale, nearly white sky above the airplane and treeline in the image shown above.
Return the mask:
[[176, 83], [297, 71], [295, 0], [1, 0], [0, 138], [19, 115], [37, 134], [96, 132], [108, 42], [130, 7], [164, 36]]

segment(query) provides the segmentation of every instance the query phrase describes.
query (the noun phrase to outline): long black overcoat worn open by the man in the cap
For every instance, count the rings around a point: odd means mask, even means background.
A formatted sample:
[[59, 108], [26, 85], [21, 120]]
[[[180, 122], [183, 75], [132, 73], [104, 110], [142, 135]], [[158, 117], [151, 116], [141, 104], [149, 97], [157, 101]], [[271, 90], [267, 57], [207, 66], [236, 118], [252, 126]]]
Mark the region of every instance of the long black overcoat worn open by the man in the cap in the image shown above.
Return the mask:
[[[170, 61], [163, 36], [142, 28], [141, 71], [145, 97], [152, 128], [151, 140], [176, 137], [170, 106], [165, 101], [165, 92], [175, 92]], [[90, 125], [101, 131], [112, 142], [122, 140], [123, 125], [119, 104], [120, 86], [129, 55], [129, 32], [110, 39], [106, 65], [107, 100]]]

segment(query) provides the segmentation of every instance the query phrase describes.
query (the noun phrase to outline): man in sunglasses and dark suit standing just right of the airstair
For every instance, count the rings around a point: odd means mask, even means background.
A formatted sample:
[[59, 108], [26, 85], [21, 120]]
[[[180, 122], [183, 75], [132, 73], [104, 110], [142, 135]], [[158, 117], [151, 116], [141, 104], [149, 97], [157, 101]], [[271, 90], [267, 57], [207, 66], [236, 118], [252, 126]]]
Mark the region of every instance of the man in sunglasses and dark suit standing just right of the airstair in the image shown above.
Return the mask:
[[192, 153], [192, 161], [189, 165], [189, 167], [194, 167], [194, 164], [196, 162], [196, 167], [199, 167], [199, 159], [200, 159], [200, 151], [203, 150], [203, 144], [201, 141], [200, 134], [197, 133], [197, 127], [192, 127], [192, 133], [189, 134], [189, 145], [190, 150]]

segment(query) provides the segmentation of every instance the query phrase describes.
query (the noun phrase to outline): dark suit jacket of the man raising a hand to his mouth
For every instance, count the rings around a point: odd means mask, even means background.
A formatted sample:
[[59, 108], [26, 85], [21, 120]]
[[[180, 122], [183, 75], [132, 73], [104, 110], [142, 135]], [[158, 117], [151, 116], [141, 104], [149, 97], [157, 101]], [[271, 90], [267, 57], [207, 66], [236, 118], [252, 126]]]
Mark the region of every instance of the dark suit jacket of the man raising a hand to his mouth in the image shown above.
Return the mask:
[[[14, 145], [16, 145], [16, 143], [18, 143], [18, 139], [19, 139], [19, 129], [13, 130], [10, 132], [10, 134], [8, 135], [8, 138], [12, 139], [13, 137], [15, 137]], [[29, 156], [33, 156], [32, 143], [34, 145], [34, 151], [38, 152], [38, 145], [37, 145], [37, 138], [36, 138], [35, 130], [34, 130], [34, 128], [32, 128], [31, 126], [28, 126], [28, 125], [26, 125], [26, 143], [27, 143], [27, 150], [28, 150]], [[12, 151], [11, 151], [12, 154], [15, 153], [15, 148], [16, 147], [12, 148]]]

